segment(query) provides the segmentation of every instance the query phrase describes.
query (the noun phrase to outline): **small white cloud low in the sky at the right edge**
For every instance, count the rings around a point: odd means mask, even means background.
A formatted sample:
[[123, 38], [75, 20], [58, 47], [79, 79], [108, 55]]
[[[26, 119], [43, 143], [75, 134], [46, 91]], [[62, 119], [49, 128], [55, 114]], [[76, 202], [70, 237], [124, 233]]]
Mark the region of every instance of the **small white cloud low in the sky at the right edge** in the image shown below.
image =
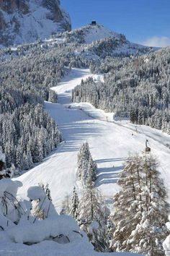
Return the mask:
[[167, 38], [166, 36], [153, 36], [152, 38], [146, 39], [142, 44], [143, 46], [166, 47], [170, 46], [170, 38]]

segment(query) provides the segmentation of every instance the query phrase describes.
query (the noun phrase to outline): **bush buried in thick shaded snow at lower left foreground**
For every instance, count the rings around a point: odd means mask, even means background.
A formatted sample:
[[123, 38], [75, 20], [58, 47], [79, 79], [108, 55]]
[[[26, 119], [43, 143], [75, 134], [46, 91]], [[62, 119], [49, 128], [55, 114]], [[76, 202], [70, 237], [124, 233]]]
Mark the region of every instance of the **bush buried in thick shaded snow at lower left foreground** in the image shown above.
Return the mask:
[[[17, 197], [21, 182], [0, 181], [0, 237], [1, 240], [35, 244], [51, 240], [61, 244], [86, 239], [76, 221], [70, 216], [58, 216], [48, 187], [30, 187], [27, 197]], [[36, 205], [36, 210], [35, 210]], [[42, 218], [43, 216], [43, 218]]]

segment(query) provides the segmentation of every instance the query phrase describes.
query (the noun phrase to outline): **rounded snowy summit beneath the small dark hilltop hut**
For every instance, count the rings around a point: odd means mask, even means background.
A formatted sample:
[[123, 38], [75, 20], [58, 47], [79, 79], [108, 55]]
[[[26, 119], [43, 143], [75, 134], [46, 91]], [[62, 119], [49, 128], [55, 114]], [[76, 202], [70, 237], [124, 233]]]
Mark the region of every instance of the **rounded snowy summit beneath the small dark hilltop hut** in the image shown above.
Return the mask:
[[94, 25], [91, 23], [79, 29], [55, 35], [54, 40], [55, 42], [81, 44], [81, 47], [78, 46], [77, 54], [84, 56], [90, 55], [91, 52], [104, 57], [120, 54], [139, 55], [151, 51], [151, 47], [131, 43], [125, 35], [115, 33], [98, 23]]

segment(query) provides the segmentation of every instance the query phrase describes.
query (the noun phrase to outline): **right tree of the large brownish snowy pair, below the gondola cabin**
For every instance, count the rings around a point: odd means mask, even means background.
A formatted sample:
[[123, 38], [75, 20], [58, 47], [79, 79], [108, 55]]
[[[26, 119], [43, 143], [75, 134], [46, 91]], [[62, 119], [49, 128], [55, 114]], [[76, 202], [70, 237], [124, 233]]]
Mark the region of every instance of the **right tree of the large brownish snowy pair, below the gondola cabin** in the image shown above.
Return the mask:
[[142, 218], [130, 235], [132, 252], [151, 256], [164, 256], [163, 242], [168, 231], [169, 205], [166, 189], [159, 177], [158, 163], [152, 155], [143, 155]]

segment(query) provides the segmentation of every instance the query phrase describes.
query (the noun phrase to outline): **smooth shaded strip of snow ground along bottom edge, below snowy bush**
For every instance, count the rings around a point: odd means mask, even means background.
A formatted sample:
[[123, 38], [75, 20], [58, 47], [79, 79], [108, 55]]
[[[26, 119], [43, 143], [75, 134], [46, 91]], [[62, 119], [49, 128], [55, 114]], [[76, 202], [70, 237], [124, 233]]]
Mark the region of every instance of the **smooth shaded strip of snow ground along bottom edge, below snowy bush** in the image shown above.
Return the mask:
[[[89, 244], [89, 243], [88, 243]], [[1, 243], [1, 256], [142, 256], [128, 252], [95, 252], [90, 244], [83, 242], [72, 242], [69, 244], [58, 244], [52, 241], [44, 241], [39, 244], [27, 246], [25, 244]]]

